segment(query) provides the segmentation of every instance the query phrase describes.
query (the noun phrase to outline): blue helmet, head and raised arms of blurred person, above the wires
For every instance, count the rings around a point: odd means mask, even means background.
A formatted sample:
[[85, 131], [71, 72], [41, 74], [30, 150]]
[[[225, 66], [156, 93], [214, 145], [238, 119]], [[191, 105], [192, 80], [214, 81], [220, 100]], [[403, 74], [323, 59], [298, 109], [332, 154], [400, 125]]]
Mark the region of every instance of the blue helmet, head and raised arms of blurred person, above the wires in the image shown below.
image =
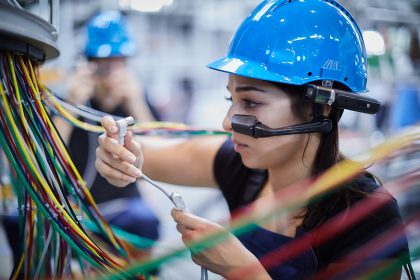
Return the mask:
[[120, 105], [136, 119], [153, 120], [139, 79], [128, 65], [136, 44], [119, 11], [102, 11], [88, 21], [83, 54], [87, 63], [79, 63], [68, 79], [68, 99], [84, 104], [92, 98], [104, 111]]

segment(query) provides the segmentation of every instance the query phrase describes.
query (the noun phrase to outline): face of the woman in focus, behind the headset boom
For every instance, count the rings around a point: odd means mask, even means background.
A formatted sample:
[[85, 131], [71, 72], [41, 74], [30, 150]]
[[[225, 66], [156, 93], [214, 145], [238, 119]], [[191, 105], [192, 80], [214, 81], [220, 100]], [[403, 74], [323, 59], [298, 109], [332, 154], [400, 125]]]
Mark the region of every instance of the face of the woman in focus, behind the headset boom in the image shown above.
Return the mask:
[[[253, 115], [272, 128], [302, 123], [291, 110], [291, 99], [271, 83], [229, 75], [227, 85], [230, 106], [223, 121], [223, 128], [232, 133], [234, 149], [241, 155], [249, 168], [276, 168], [285, 164], [299, 164], [307, 143], [308, 135], [282, 135], [267, 138], [253, 138], [236, 133], [231, 127], [234, 114]], [[309, 114], [309, 112], [308, 112]]]

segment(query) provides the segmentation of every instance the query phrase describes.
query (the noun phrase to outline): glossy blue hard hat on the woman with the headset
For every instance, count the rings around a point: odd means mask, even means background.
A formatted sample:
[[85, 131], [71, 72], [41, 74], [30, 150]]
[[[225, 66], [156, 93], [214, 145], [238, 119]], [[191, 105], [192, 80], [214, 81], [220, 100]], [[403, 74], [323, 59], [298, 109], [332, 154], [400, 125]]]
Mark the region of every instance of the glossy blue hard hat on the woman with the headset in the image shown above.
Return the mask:
[[292, 85], [332, 80], [366, 91], [362, 34], [333, 0], [262, 2], [236, 31], [226, 56], [208, 67]]

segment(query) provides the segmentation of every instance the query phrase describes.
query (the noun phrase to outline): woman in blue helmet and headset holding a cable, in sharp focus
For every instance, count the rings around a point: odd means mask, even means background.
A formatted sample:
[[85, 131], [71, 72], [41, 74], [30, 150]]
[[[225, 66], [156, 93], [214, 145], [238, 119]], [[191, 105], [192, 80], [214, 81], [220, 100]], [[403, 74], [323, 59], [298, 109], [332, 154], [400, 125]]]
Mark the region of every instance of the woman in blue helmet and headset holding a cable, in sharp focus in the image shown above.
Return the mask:
[[[228, 74], [226, 99], [231, 106], [223, 128], [231, 137], [191, 139], [162, 148], [128, 133], [122, 146], [115, 141], [114, 120], [106, 116], [95, 165], [108, 182], [124, 187], [144, 172], [159, 181], [214, 186], [231, 212], [258, 216], [272, 204], [287, 205], [276, 194], [288, 186], [344, 159], [338, 146], [344, 109], [374, 114], [380, 108], [380, 102], [361, 95], [366, 92], [367, 60], [359, 27], [333, 0], [262, 2], [238, 28], [227, 54], [208, 66]], [[308, 187], [289, 192], [303, 195]], [[379, 197], [387, 202], [347, 225], [343, 213]], [[193, 261], [227, 279], [322, 278], [332, 272], [335, 278], [354, 279], [378, 267], [389, 269], [389, 278], [400, 277], [408, 261], [404, 234], [381, 244], [382, 250], [355, 253], [391, 229], [403, 231], [395, 199], [373, 175], [364, 172], [328, 196], [287, 209], [205, 250], [192, 248]], [[190, 212], [174, 209], [172, 216], [187, 246], [226, 231]], [[345, 229], [331, 229], [323, 238], [318, 229], [336, 218]], [[299, 240], [298, 250], [273, 261], [278, 250]]]

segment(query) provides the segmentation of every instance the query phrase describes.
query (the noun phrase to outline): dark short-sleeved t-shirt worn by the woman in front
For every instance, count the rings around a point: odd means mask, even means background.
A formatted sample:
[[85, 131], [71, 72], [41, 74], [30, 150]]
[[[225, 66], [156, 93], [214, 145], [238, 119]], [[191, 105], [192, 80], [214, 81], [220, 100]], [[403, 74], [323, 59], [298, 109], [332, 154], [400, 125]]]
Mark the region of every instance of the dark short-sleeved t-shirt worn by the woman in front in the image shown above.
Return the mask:
[[[229, 209], [232, 212], [240, 210], [257, 198], [267, 180], [268, 173], [266, 170], [250, 169], [244, 166], [240, 155], [234, 151], [233, 143], [229, 139], [217, 152], [214, 162], [214, 175], [227, 201]], [[311, 244], [309, 246], [311, 247], [310, 250], [313, 250], [313, 253], [316, 256], [317, 270], [328, 266], [330, 263], [340, 262], [340, 259], [343, 256], [346, 256], [352, 250], [367, 244], [367, 242], [373, 241], [376, 237], [379, 237], [387, 230], [395, 227], [403, 227], [397, 202], [384, 188], [375, 182], [371, 175], [367, 173], [362, 174], [358, 178], [353, 179], [350, 183], [347, 183], [338, 189], [345, 190], [346, 188], [353, 188], [354, 190], [358, 190], [360, 192], [348, 192], [353, 194], [352, 197], [341, 199], [343, 196], [339, 196], [339, 191], [335, 191], [327, 198], [324, 198], [321, 202], [318, 202], [324, 206], [324, 214], [316, 217], [316, 219], [312, 221], [311, 226], [300, 226], [297, 229], [296, 238], [298, 238], [298, 235], [301, 232], [311, 234], [312, 230], [327, 222], [336, 214], [349, 210], [347, 201], [350, 201], [350, 205], [352, 206], [361, 201], [364, 197], [366, 197], [366, 195], [370, 196], [374, 193], [375, 195], [379, 193], [379, 195], [388, 196], [389, 200], [386, 200], [387, 202], [384, 206], [380, 207], [373, 213], [369, 213], [366, 218], [344, 231], [344, 233], [336, 234], [331, 238], [328, 238], [327, 242], [322, 242], [322, 244], [318, 242], [319, 236], [314, 233], [311, 236]], [[345, 220], [343, 220], [343, 222], [345, 222]], [[248, 234], [245, 238], [241, 238], [239, 236], [239, 239], [258, 258], [262, 257], [264, 252], [267, 253], [270, 250], [275, 251], [278, 249], [279, 246], [275, 245], [276, 242], [279, 244], [282, 243], [282, 246], [285, 245], [284, 241], [281, 241], [284, 240], [285, 237], [280, 234], [268, 232], [259, 227], [257, 227], [256, 231], [258, 231], [258, 233], [251, 235]], [[249, 238], [250, 236], [252, 236], [252, 238]], [[256, 241], [256, 238], [260, 241]], [[270, 239], [271, 241], [266, 242], [264, 239]], [[293, 238], [289, 239], [293, 240]], [[378, 254], [372, 256], [372, 260], [396, 258], [400, 255], [407, 258], [408, 245], [405, 234], [400, 235], [399, 238], [394, 241], [395, 242], [392, 242], [390, 246], [386, 246], [386, 248], [384, 247], [384, 250], [380, 250]], [[259, 245], [257, 244], [258, 242], [265, 244]], [[247, 243], [253, 244], [249, 245]], [[263, 246], [266, 247], [262, 249]], [[270, 246], [271, 248], [269, 248]], [[308, 259], [308, 256], [309, 255], [306, 256], [306, 259]], [[301, 263], [300, 268], [304, 269], [303, 267], [305, 266], [308, 266], [307, 263], [304, 265]], [[296, 267], [298, 270], [299, 265]], [[277, 272], [275, 270], [269, 270], [269, 273], [275, 279], [296, 279], [305, 275], [310, 275], [314, 272], [306, 271], [300, 274], [296, 274], [296, 272], [294, 272], [295, 274], [290, 274], [290, 277], [284, 277], [285, 271], [290, 272], [290, 268], [287, 268], [286, 270], [279, 269]], [[282, 276], [280, 277], [279, 275], [281, 274]]]

